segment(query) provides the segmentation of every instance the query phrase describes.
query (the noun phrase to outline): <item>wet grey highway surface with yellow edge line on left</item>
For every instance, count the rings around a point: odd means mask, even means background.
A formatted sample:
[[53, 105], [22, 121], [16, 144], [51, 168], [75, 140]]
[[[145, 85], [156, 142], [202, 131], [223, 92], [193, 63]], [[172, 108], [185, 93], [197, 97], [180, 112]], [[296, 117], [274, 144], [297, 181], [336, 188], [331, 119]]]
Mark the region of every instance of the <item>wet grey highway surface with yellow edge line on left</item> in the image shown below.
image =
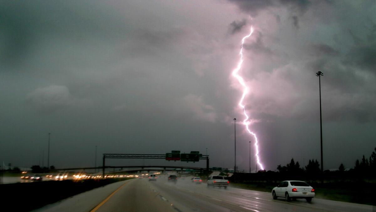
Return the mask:
[[287, 202], [268, 192], [229, 187], [210, 188], [190, 178], [168, 183], [132, 179], [93, 189], [36, 211], [367, 211], [373, 206], [314, 198]]

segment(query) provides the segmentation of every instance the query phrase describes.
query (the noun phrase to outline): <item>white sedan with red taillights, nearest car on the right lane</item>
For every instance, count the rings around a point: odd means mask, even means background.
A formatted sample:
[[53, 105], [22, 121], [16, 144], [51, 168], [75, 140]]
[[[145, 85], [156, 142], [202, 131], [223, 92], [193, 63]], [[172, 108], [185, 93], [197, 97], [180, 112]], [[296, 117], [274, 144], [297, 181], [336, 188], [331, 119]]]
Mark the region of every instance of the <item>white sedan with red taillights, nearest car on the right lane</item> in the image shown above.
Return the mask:
[[287, 201], [291, 201], [291, 199], [306, 199], [310, 203], [312, 198], [315, 197], [315, 189], [304, 181], [288, 180], [274, 187], [271, 195], [274, 200], [278, 197], [284, 197]]

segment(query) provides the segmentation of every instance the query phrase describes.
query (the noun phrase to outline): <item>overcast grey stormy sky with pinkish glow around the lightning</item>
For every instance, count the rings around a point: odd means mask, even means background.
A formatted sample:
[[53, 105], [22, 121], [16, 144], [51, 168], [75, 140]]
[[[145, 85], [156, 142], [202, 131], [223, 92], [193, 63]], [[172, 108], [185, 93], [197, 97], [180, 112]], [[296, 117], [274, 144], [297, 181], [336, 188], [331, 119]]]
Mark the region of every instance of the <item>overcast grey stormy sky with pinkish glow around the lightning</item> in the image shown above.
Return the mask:
[[[210, 155], [232, 168], [240, 74], [265, 169], [354, 166], [376, 146], [376, 3], [309, 0], [2, 1], [0, 160], [94, 165], [103, 153]], [[239, 122], [237, 165], [255, 169]], [[303, 159], [304, 158], [304, 159]], [[40, 161], [40, 164], [42, 161]], [[168, 164], [111, 160], [111, 165]], [[1, 164], [2, 165], [2, 164]]]

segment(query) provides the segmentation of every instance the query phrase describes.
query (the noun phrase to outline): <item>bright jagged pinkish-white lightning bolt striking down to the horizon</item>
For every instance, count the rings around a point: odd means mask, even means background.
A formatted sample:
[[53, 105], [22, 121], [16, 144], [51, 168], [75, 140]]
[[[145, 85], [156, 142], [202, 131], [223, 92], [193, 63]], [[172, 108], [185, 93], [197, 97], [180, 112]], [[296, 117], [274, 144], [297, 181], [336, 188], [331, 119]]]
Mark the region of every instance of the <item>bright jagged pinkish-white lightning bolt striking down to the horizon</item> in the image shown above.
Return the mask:
[[248, 35], [244, 36], [243, 39], [241, 39], [241, 49], [240, 49], [240, 53], [239, 53], [240, 54], [240, 60], [238, 62], [238, 66], [235, 69], [233, 69], [232, 76], [235, 77], [238, 80], [238, 82], [241, 84], [241, 86], [243, 87], [243, 95], [241, 96], [241, 99], [240, 99], [238, 105], [243, 109], [244, 116], [246, 117], [246, 119], [243, 120], [243, 124], [246, 126], [246, 129], [249, 132], [249, 134], [253, 135], [253, 137], [255, 138], [255, 147], [256, 147], [255, 148], [256, 149], [256, 154], [255, 155], [256, 155], [257, 164], [261, 167], [261, 170], [264, 170], [264, 166], [262, 166], [262, 164], [260, 162], [260, 157], [258, 155], [259, 154], [259, 150], [258, 150], [259, 148], [258, 148], [257, 136], [256, 136], [256, 134], [254, 132], [250, 131], [250, 129], [249, 129], [249, 124], [250, 124], [250, 121], [248, 121], [249, 116], [247, 115], [246, 108], [245, 108], [245, 106], [243, 104], [243, 100], [246, 97], [246, 95], [248, 94], [249, 88], [247, 87], [246, 83], [244, 82], [243, 77], [241, 77], [238, 74], [239, 70], [241, 69], [241, 65], [243, 64], [243, 61], [244, 61], [243, 60], [243, 45], [244, 45], [244, 41], [246, 41], [247, 38], [249, 38], [252, 35], [252, 33], [253, 33], [253, 26], [251, 26], [251, 32]]

